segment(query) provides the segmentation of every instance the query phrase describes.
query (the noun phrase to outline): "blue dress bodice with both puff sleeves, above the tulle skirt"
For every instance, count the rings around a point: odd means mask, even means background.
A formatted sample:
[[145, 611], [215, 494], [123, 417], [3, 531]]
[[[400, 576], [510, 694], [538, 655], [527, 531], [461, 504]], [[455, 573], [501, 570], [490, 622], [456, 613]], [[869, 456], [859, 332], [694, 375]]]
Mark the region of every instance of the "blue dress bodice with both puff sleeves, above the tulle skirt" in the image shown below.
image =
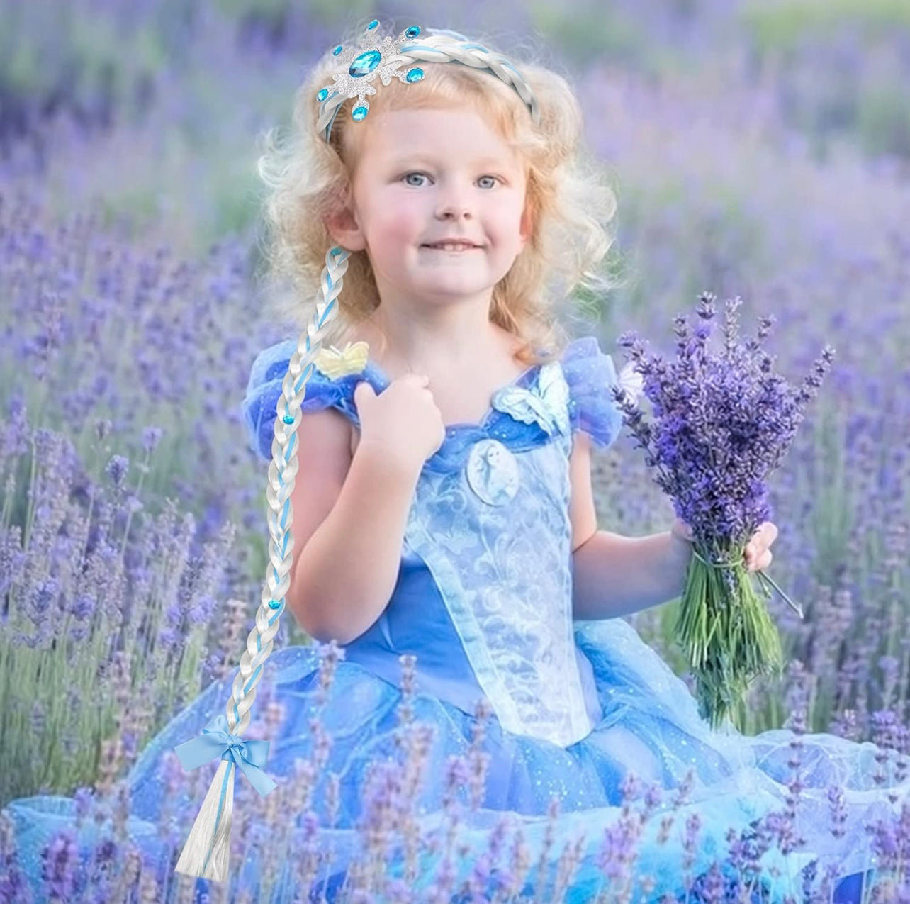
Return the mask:
[[[252, 447], [270, 458], [293, 340], [262, 351], [243, 403]], [[354, 387], [389, 381], [366, 361], [329, 377], [314, 368], [303, 411], [329, 405], [359, 428]], [[495, 391], [476, 423], [452, 424], [420, 472], [399, 577], [377, 621], [345, 656], [397, 684], [417, 656], [419, 690], [467, 712], [486, 696], [515, 734], [566, 747], [601, 715], [571, 617], [572, 433], [609, 445], [622, 425], [616, 371], [592, 337]]]

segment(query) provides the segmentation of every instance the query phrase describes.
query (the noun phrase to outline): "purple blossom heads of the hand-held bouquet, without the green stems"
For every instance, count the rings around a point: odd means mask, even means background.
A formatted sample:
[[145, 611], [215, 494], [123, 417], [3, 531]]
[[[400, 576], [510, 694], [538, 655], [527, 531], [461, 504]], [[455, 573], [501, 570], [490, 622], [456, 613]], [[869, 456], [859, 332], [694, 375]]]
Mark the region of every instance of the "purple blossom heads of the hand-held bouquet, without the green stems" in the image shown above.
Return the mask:
[[834, 350], [826, 347], [803, 384], [791, 386], [770, 370], [772, 359], [761, 349], [771, 318], [760, 321], [754, 340], [737, 341], [737, 298], [726, 304], [723, 351], [713, 354], [707, 344], [713, 300], [710, 292], [699, 297], [695, 330], [682, 315], [674, 320], [676, 361], [648, 355], [635, 333], [618, 340], [642, 374], [653, 422], [642, 421], [622, 389], [613, 392], [655, 482], [693, 527], [695, 542], [719, 553], [745, 543], [767, 520], [767, 477], [793, 442]]

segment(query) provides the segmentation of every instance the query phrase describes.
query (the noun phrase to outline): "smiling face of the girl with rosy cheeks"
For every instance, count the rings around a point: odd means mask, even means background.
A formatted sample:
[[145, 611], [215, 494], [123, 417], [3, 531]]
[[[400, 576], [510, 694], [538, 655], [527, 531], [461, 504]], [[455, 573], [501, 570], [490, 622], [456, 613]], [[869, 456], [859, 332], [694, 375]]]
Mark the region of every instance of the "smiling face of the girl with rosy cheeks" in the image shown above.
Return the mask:
[[[352, 127], [366, 131], [349, 228], [333, 232], [367, 250], [380, 296], [489, 298], [530, 234], [518, 154], [467, 107], [388, 111]], [[470, 247], [432, 247], [445, 239]]]

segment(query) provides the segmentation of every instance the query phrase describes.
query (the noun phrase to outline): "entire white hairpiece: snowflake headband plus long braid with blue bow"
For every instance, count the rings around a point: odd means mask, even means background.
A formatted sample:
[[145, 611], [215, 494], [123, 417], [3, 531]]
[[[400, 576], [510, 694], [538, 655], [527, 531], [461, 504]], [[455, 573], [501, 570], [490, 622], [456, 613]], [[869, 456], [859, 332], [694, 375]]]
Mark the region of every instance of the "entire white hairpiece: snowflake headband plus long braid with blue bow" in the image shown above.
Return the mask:
[[[358, 122], [366, 117], [369, 110], [366, 96], [376, 94], [376, 88], [372, 84], [376, 76], [379, 76], [383, 85], [388, 85], [393, 76], [398, 76], [407, 83], [420, 81], [423, 70], [419, 66], [403, 68], [413, 60], [454, 62], [489, 69], [515, 88], [527, 104], [534, 123], [540, 122], [540, 111], [530, 87], [504, 57], [494, 55], [480, 45], [470, 44], [464, 36], [454, 32], [428, 36], [420, 44], [406, 43], [420, 35], [420, 27], [417, 25], [411, 25], [394, 40], [386, 37], [379, 46], [369, 47], [377, 25], [379, 22], [374, 19], [367, 26], [359, 40], [359, 54], [354, 48], [345, 51], [340, 45], [333, 51], [335, 56], [339, 56], [339, 62], [347, 68], [333, 76], [334, 91], [326, 86], [317, 95], [321, 102], [318, 125], [324, 129], [327, 141], [332, 122], [345, 100], [358, 97], [359, 105], [351, 111], [351, 117]], [[231, 696], [227, 700], [224, 715], [219, 714], [213, 718], [200, 736], [174, 748], [187, 770], [200, 767], [216, 757], [221, 760], [174, 870], [187, 876], [201, 876], [218, 881], [227, 879], [235, 767], [248, 777], [262, 797], [277, 787], [263, 768], [268, 756], [268, 741], [244, 741], [241, 736], [249, 726], [249, 710], [256, 699], [262, 666], [272, 652], [272, 638], [278, 633], [278, 619], [285, 608], [294, 552], [290, 533], [293, 516], [290, 495], [298, 471], [297, 428], [300, 405], [307, 393], [313, 361], [322, 349], [323, 340], [329, 338], [329, 324], [338, 314], [338, 296], [344, 274], [348, 270], [349, 253], [339, 247], [327, 252], [320, 279], [323, 300], [317, 300], [316, 312], [298, 340], [298, 346], [288, 361], [288, 373], [281, 384], [275, 439], [272, 442], [273, 457], [268, 466], [266, 488], [270, 564], [256, 613], [256, 626], [247, 637], [247, 648], [240, 657], [240, 669], [231, 686]]]

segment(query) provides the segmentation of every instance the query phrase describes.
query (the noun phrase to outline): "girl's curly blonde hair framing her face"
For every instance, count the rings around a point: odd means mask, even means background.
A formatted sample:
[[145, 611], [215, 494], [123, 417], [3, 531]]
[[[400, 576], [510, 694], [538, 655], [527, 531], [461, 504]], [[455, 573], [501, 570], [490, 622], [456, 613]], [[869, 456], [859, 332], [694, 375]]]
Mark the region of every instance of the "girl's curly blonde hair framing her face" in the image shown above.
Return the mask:
[[[395, 78], [388, 86], [377, 83], [369, 116], [468, 106], [521, 151], [531, 236], [492, 289], [490, 321], [520, 340], [515, 357], [531, 366], [556, 360], [564, 350], [569, 336], [558, 314], [565, 300], [579, 289], [593, 297], [616, 285], [601, 264], [612, 246], [608, 227], [617, 203], [605, 169], [583, 145], [581, 107], [566, 78], [544, 66], [511, 62], [536, 96], [539, 126], [513, 87], [489, 71], [451, 62], [421, 62], [425, 75], [413, 84]], [[278, 128], [269, 130], [258, 159], [259, 176], [268, 187], [263, 262], [272, 288], [269, 304], [279, 320], [292, 322], [298, 331], [313, 316], [326, 253], [334, 245], [327, 220], [348, 203], [350, 176], [366, 150], [358, 140], [361, 124], [350, 116], [356, 98], [339, 107], [328, 142], [317, 129], [316, 95], [331, 85], [337, 68], [330, 52], [319, 59], [298, 87], [289, 135], [282, 139]], [[339, 295], [339, 335], [378, 306], [367, 252], [352, 252]]]

